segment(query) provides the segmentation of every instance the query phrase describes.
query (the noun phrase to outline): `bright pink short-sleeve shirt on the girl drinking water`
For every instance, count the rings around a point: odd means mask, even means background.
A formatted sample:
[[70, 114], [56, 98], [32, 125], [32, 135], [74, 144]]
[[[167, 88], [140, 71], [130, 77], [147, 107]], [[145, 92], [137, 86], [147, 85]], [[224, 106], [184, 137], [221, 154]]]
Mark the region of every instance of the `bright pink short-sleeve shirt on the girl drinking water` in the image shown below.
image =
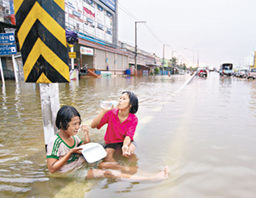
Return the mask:
[[136, 115], [129, 113], [128, 118], [120, 123], [118, 118], [119, 109], [112, 109], [107, 112], [97, 126], [100, 129], [103, 125], [108, 123], [108, 128], [104, 137], [105, 143], [123, 142], [126, 136], [133, 141], [134, 132], [138, 123]]

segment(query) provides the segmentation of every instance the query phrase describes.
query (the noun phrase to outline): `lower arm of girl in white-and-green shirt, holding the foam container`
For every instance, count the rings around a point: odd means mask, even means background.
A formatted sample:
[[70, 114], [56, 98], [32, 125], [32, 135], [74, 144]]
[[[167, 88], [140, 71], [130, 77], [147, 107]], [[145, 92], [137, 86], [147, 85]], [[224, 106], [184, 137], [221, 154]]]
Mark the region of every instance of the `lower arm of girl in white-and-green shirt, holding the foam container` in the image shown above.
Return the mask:
[[72, 155], [72, 153], [79, 153], [81, 154], [81, 150], [82, 148], [76, 147], [70, 150], [70, 152], [68, 152], [66, 155], [64, 155], [63, 158], [61, 159], [55, 159], [55, 158], [47, 158], [47, 167], [49, 172], [54, 173], [57, 170], [61, 169], [62, 166], [64, 166], [64, 164], [66, 164], [66, 162], [68, 161], [68, 159], [70, 158], [70, 156]]

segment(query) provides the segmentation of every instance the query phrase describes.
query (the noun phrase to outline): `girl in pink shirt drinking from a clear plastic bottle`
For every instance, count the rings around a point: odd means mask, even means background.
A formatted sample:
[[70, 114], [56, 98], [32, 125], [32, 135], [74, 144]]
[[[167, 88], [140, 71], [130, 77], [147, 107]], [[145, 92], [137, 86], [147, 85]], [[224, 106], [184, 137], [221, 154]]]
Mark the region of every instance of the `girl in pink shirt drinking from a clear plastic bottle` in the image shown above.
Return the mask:
[[102, 109], [92, 121], [91, 128], [97, 129], [108, 123], [104, 137], [107, 151], [105, 161], [115, 161], [113, 154], [117, 148], [122, 149], [122, 155], [126, 158], [134, 153], [136, 145], [133, 137], [138, 123], [138, 118], [134, 114], [138, 107], [138, 98], [134, 93], [122, 92], [116, 108]]

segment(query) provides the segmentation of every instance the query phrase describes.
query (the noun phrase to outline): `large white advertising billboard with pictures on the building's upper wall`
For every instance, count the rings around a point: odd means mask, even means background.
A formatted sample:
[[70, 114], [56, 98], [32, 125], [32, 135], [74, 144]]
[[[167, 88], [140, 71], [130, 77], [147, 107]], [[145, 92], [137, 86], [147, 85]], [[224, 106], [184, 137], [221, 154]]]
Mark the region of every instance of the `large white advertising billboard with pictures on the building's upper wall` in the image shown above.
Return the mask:
[[[115, 0], [108, 1], [115, 8]], [[103, 8], [105, 6], [102, 3], [98, 4], [93, 0], [65, 0], [67, 29], [113, 43], [113, 15]]]

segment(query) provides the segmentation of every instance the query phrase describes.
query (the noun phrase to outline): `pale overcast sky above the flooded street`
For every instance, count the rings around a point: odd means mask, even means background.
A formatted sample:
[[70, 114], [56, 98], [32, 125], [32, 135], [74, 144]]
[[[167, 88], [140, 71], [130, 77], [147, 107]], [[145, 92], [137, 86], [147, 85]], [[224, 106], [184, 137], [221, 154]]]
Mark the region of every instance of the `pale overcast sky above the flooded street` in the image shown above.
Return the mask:
[[[118, 39], [186, 66], [247, 66], [256, 50], [256, 0], [118, 0]], [[194, 61], [193, 61], [194, 57]], [[247, 61], [245, 61], [247, 60]], [[194, 65], [193, 65], [194, 62]]]

